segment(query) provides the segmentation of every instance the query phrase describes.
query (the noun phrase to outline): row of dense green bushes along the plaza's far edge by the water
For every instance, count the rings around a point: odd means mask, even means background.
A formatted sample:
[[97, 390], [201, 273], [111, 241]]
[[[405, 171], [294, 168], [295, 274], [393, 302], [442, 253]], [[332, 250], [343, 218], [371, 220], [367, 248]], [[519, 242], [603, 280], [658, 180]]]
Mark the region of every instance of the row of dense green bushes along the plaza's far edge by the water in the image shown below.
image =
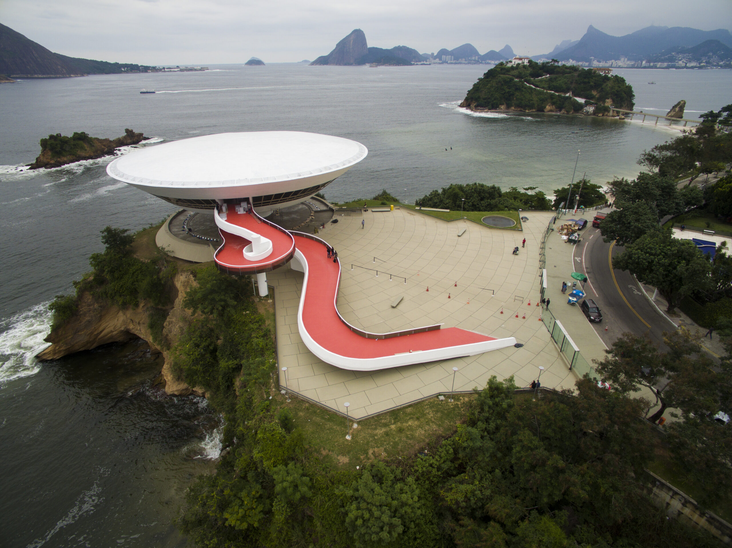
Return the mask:
[[418, 199], [417, 205], [423, 208], [463, 211], [552, 209], [551, 202], [542, 191], [531, 194], [531, 191], [520, 191], [515, 186], [502, 191], [496, 185], [488, 186], [484, 183], [452, 184], [440, 190], [433, 190]]

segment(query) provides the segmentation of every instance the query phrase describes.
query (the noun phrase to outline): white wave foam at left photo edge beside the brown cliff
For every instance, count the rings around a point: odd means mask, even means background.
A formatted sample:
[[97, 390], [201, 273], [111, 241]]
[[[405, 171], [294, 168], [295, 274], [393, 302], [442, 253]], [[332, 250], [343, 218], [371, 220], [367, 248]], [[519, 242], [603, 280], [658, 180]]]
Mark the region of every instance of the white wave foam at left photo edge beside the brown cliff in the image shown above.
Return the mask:
[[38, 373], [36, 354], [50, 346], [43, 340], [51, 332], [48, 302], [2, 321], [0, 330], [0, 384]]

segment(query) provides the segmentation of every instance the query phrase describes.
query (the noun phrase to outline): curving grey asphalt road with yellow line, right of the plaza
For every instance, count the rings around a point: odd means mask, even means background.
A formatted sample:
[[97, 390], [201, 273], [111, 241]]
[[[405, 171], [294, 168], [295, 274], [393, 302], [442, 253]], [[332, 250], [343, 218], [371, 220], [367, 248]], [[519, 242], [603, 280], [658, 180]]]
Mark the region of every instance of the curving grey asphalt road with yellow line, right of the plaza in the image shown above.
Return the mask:
[[663, 332], [673, 330], [673, 324], [656, 310], [629, 272], [610, 267], [610, 256], [623, 248], [603, 242], [600, 229], [591, 226], [583, 230], [582, 237], [572, 258], [575, 270], [588, 278], [584, 284], [587, 298], [594, 300], [602, 312], [602, 322], [590, 324], [605, 345], [610, 346], [628, 331], [649, 335], [665, 350]]

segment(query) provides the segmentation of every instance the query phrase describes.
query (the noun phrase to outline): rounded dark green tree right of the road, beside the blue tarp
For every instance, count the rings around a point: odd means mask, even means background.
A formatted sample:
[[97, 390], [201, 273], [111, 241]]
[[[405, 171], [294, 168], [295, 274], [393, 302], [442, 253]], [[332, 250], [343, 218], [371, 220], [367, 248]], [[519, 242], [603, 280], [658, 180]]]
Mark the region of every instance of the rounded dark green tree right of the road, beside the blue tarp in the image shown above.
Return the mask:
[[671, 230], [653, 229], [613, 258], [613, 267], [630, 270], [658, 289], [671, 312], [681, 299], [709, 284], [709, 261], [691, 240], [678, 240]]

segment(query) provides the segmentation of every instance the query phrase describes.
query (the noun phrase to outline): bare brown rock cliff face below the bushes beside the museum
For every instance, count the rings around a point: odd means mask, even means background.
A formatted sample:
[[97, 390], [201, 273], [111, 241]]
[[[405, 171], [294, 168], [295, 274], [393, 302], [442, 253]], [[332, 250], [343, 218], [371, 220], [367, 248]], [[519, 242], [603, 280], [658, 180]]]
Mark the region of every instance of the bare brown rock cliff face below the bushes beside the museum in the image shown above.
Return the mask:
[[[170, 346], [179, 340], [190, 322], [190, 312], [183, 308], [183, 297], [195, 283], [193, 275], [188, 271], [179, 272], [173, 278], [177, 292], [176, 299], [163, 326], [163, 338]], [[74, 316], [51, 331], [45, 338], [51, 346], [37, 357], [44, 360], [59, 359], [68, 354], [94, 349], [102, 344], [119, 343], [138, 337], [146, 340], [153, 351], [160, 352], [165, 358], [162, 372], [165, 392], [171, 395], [192, 393], [205, 395], [203, 389], [191, 388], [173, 375], [168, 350], [160, 348], [152, 340], [152, 333], [148, 327], [151, 312], [152, 307], [146, 302], [137, 308], [119, 308], [97, 299], [89, 292], [83, 292], [78, 299]]]

